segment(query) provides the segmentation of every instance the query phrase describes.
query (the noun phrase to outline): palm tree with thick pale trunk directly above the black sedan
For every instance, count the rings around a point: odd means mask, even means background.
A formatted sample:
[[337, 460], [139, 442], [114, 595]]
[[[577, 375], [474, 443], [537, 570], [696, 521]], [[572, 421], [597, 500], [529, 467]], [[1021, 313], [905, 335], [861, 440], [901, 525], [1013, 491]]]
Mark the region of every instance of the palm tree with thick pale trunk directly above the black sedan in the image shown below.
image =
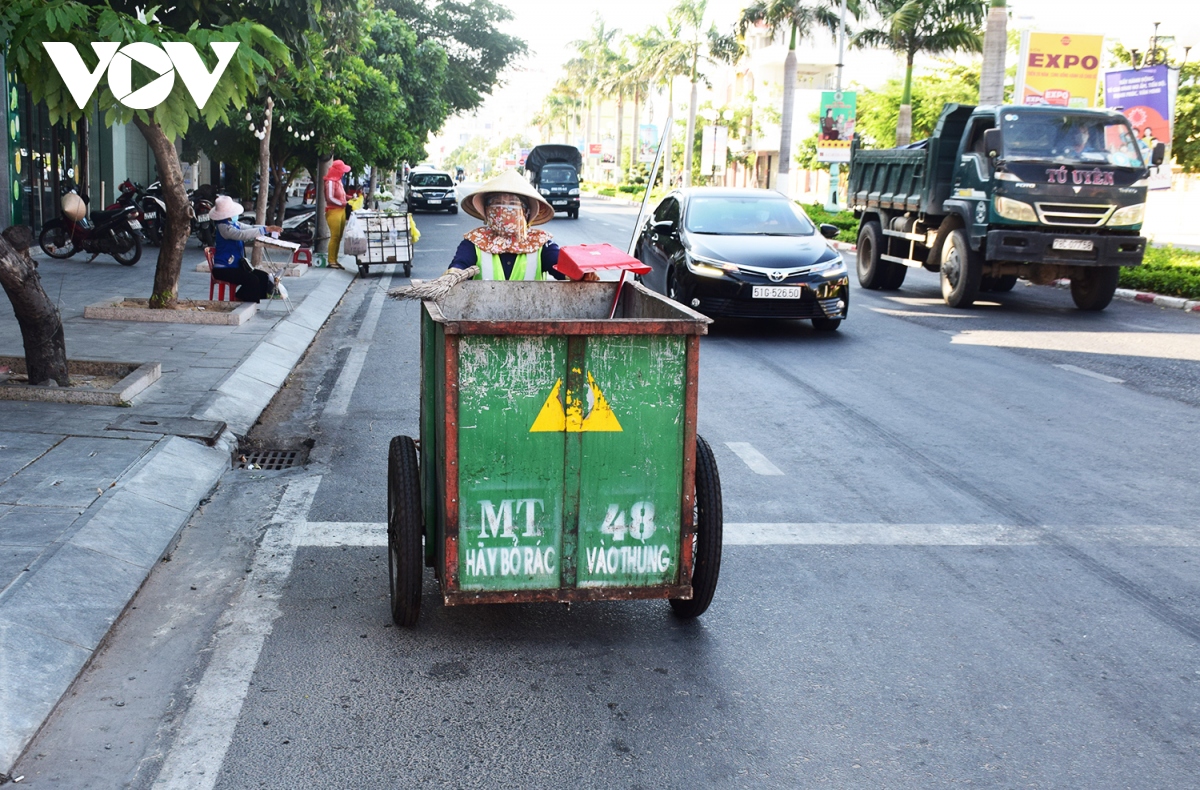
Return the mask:
[[[858, 2], [847, 4], [854, 17], [858, 16]], [[784, 108], [779, 124], [779, 180], [776, 188], [785, 194], [790, 188], [788, 178], [792, 170], [792, 115], [796, 107], [796, 43], [810, 35], [814, 28], [821, 26], [836, 35], [839, 12], [830, 0], [816, 0], [806, 5], [800, 0], [755, 0], [746, 6], [738, 18], [738, 36], [745, 38], [751, 25], [764, 24], [772, 35], [780, 30], [790, 30], [787, 56], [784, 59]]]

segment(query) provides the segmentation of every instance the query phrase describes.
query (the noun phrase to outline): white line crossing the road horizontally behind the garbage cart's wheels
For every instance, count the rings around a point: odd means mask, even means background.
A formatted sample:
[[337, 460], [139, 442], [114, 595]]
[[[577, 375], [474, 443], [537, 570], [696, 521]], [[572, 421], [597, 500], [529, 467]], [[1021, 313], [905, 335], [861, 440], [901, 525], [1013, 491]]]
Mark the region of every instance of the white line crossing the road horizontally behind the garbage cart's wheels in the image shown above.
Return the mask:
[[[1116, 525], [1045, 527], [1087, 544], [1124, 546], [1200, 547], [1192, 527]], [[726, 546], [1032, 546], [1040, 545], [1043, 528], [995, 523], [816, 523], [726, 522]], [[388, 545], [382, 521], [302, 521], [296, 525], [296, 546], [374, 549]]]

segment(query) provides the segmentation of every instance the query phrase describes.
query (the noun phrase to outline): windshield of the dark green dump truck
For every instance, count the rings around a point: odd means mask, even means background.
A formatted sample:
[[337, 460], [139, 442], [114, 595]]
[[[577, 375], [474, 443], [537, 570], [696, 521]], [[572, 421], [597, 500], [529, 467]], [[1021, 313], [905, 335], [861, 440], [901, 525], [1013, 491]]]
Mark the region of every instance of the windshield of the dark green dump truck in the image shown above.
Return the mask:
[[1141, 144], [1123, 118], [1008, 112], [1001, 122], [1004, 158], [1010, 161], [1145, 167], [1148, 157], [1148, 151], [1142, 156]]

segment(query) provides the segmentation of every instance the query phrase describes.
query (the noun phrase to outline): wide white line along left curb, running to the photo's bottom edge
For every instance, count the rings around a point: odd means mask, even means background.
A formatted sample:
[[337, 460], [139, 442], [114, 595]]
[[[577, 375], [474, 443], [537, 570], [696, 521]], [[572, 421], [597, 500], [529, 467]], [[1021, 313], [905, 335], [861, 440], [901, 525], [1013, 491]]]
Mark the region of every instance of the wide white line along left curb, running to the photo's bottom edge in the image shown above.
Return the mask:
[[258, 654], [280, 616], [278, 600], [295, 557], [295, 525], [308, 514], [319, 485], [320, 475], [304, 478], [283, 492], [250, 576], [221, 617], [212, 659], [155, 779], [156, 789], [211, 790], [216, 785]]

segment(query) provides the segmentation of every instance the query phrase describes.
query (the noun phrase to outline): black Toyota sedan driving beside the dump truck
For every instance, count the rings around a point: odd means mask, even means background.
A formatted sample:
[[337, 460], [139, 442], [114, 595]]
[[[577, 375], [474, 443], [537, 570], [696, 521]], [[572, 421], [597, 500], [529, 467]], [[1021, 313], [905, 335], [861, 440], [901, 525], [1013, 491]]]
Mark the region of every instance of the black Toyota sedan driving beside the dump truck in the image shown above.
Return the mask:
[[835, 235], [772, 190], [689, 187], [662, 198], [634, 255], [653, 269], [647, 286], [708, 316], [809, 318], [832, 331], [850, 307]]

